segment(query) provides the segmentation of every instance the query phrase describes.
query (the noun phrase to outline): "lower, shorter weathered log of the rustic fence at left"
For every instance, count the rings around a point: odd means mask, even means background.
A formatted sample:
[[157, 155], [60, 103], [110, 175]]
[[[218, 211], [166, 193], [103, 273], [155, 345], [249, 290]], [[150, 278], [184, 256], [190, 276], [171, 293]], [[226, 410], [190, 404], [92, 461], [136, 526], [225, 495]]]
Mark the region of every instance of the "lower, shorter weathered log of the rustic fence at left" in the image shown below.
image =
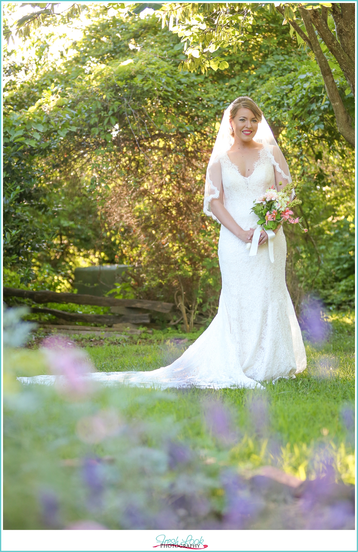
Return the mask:
[[133, 314], [130, 316], [113, 316], [106, 314], [82, 314], [80, 312], [66, 312], [57, 309], [46, 309], [46, 307], [32, 307], [31, 312], [40, 314], [51, 314], [56, 318], [72, 322], [87, 322], [89, 324], [101, 324], [103, 326], [112, 326], [123, 322], [132, 324], [149, 324], [149, 314]]

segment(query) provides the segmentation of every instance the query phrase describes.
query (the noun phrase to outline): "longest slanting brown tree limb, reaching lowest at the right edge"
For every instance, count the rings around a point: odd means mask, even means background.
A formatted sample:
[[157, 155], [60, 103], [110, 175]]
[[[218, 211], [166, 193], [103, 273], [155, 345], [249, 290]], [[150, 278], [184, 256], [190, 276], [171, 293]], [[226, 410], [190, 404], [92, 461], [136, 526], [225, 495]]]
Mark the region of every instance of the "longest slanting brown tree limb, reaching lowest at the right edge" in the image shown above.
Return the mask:
[[315, 59], [322, 73], [324, 86], [327, 91], [329, 101], [333, 107], [335, 118], [337, 121], [337, 126], [340, 134], [351, 144], [355, 146], [355, 131], [352, 129], [352, 120], [349, 113], [346, 111], [341, 97], [338, 92], [337, 85], [334, 81], [332, 72], [328, 65], [328, 61], [325, 55], [322, 52], [322, 49], [319, 45], [318, 38], [315, 34], [309, 12], [304, 9], [302, 6], [298, 8], [299, 13], [303, 19], [304, 25], [308, 33], [309, 40], [312, 44], [312, 51], [314, 52]]

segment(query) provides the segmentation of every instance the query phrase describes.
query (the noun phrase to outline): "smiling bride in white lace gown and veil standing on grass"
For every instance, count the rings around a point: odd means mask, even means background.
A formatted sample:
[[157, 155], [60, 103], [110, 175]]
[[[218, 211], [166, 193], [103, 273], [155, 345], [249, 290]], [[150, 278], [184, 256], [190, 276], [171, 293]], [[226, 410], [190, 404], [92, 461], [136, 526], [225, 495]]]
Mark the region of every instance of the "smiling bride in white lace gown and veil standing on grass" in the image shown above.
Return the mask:
[[218, 314], [180, 358], [152, 371], [91, 374], [110, 384], [260, 388], [259, 382], [294, 378], [306, 368], [301, 331], [285, 281], [286, 240], [282, 227], [265, 231], [256, 255], [248, 244], [257, 227], [253, 201], [267, 188], [281, 190], [289, 169], [261, 110], [248, 97], [225, 110], [207, 168], [204, 213], [222, 226], [219, 264], [222, 292]]

